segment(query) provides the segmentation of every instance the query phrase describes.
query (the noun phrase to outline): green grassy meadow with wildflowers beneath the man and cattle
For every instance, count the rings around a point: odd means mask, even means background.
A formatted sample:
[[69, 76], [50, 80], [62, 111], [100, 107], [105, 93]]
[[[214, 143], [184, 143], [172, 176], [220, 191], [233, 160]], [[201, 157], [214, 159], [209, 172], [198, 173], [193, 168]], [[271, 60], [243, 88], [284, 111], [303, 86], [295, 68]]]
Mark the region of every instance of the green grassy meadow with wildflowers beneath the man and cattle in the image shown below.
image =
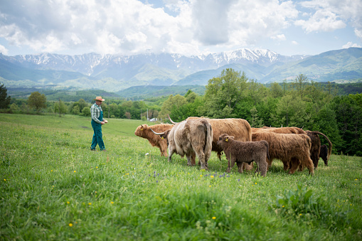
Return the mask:
[[0, 114], [0, 240], [362, 240], [362, 157], [262, 178], [212, 154], [201, 171], [139, 124], [109, 119], [101, 152], [90, 118]]

